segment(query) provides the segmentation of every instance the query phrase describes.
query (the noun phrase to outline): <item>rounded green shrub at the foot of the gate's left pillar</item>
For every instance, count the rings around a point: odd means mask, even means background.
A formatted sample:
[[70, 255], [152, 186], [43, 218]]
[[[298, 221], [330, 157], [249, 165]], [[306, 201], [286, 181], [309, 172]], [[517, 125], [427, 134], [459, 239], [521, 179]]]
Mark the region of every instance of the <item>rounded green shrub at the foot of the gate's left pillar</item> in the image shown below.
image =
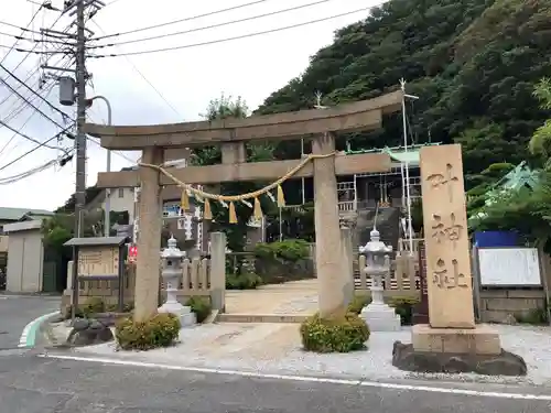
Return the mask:
[[149, 350], [171, 346], [180, 328], [176, 316], [160, 313], [142, 323], [134, 323], [130, 317], [119, 319], [115, 325], [115, 337], [123, 350]]

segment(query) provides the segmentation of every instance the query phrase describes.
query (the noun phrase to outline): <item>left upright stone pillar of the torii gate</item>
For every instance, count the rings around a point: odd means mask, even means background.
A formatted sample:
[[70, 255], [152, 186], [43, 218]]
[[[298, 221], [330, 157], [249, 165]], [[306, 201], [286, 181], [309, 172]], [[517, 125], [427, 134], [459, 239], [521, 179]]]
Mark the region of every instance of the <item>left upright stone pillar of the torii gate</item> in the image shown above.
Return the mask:
[[[163, 150], [145, 148], [142, 162], [159, 165]], [[136, 269], [134, 320], [143, 322], [156, 313], [159, 306], [159, 276], [161, 260], [161, 186], [159, 173], [140, 166], [140, 237]]]

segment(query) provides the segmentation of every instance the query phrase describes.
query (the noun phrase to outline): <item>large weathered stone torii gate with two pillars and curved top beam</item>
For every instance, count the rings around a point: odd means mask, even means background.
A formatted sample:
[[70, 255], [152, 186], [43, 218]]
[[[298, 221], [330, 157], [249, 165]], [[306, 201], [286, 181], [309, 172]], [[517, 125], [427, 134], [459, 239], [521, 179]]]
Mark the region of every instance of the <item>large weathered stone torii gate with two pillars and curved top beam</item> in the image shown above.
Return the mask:
[[[222, 164], [212, 166], [166, 167], [186, 184], [218, 184], [236, 181], [276, 181], [301, 160], [246, 162], [246, 142], [299, 139], [312, 135], [314, 155], [335, 152], [335, 132], [367, 131], [381, 127], [382, 115], [399, 111], [402, 91], [325, 110], [300, 110], [246, 119], [184, 122], [156, 126], [100, 126], [88, 123], [86, 133], [99, 137], [109, 150], [140, 150], [142, 163], [161, 165], [165, 151], [179, 148], [220, 144]], [[322, 316], [345, 311], [345, 295], [353, 280], [341, 246], [336, 175], [387, 172], [390, 157], [381, 153], [313, 159], [293, 177], [314, 177], [316, 269]], [[140, 233], [136, 280], [134, 319], [152, 316], [158, 307], [159, 251], [161, 249], [163, 186], [175, 183], [159, 171], [141, 165], [139, 171], [99, 173], [99, 188], [141, 185]]]

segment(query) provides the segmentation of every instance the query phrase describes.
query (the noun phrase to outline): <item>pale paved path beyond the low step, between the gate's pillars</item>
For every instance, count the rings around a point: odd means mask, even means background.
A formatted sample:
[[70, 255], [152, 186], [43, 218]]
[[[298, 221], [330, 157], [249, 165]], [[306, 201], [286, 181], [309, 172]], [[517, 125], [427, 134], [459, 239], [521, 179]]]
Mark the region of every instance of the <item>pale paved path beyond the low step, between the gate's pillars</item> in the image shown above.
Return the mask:
[[228, 314], [312, 315], [317, 311], [317, 280], [262, 285], [257, 290], [226, 292]]

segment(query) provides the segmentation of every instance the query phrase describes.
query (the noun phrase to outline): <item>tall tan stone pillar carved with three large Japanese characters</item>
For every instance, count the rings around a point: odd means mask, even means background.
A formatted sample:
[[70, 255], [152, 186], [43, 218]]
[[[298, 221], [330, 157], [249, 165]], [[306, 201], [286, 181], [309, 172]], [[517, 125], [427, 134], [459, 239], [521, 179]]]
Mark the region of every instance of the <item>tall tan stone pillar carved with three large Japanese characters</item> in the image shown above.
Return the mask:
[[461, 145], [420, 151], [432, 328], [475, 328]]

